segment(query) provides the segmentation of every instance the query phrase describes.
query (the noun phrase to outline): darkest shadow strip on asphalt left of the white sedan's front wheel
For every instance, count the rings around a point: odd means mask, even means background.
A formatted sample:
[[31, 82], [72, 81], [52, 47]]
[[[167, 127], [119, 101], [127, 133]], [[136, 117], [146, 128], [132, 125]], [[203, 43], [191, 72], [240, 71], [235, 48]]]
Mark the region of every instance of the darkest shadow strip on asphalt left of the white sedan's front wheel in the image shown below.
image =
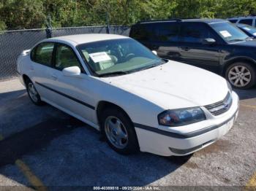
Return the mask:
[[0, 141], [0, 167], [15, 163], [15, 160], [23, 155], [42, 149], [56, 136], [61, 136], [61, 134], [81, 125], [83, 122], [72, 117], [70, 120], [52, 118], [12, 134], [7, 139]]

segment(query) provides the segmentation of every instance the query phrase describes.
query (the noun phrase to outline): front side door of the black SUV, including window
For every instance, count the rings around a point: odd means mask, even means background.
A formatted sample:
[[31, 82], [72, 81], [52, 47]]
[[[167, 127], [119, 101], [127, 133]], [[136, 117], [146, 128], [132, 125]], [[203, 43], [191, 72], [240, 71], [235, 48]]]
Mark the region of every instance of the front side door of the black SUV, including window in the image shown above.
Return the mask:
[[[221, 44], [219, 37], [205, 23], [181, 23], [181, 62], [203, 69], [219, 72]], [[214, 44], [203, 44], [203, 39], [212, 38]]]

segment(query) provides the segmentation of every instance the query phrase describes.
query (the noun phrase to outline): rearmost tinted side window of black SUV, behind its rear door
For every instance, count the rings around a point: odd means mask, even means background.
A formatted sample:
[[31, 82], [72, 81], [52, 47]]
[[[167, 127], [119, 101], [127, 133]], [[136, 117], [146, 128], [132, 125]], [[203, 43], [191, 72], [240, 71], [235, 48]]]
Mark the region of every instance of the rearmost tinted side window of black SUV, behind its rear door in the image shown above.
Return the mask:
[[132, 26], [129, 36], [138, 41], [148, 41], [154, 39], [155, 31], [151, 24], [140, 24]]

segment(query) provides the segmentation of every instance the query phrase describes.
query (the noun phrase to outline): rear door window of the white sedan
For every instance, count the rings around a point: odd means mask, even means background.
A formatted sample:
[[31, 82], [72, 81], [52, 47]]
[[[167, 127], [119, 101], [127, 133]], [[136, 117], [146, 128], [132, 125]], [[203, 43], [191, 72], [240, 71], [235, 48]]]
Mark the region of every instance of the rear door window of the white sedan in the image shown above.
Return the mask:
[[45, 66], [50, 66], [53, 55], [53, 42], [42, 42], [38, 44], [31, 52], [31, 60], [36, 63], [41, 63]]

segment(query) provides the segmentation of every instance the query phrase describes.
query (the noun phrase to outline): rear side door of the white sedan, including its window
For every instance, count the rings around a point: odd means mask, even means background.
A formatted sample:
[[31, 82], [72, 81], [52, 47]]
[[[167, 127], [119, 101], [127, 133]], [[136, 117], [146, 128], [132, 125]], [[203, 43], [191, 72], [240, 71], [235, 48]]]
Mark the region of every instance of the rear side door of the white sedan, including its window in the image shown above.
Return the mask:
[[52, 87], [50, 76], [53, 61], [53, 42], [42, 42], [31, 50], [31, 79], [42, 99], [54, 102], [55, 95], [47, 87]]

